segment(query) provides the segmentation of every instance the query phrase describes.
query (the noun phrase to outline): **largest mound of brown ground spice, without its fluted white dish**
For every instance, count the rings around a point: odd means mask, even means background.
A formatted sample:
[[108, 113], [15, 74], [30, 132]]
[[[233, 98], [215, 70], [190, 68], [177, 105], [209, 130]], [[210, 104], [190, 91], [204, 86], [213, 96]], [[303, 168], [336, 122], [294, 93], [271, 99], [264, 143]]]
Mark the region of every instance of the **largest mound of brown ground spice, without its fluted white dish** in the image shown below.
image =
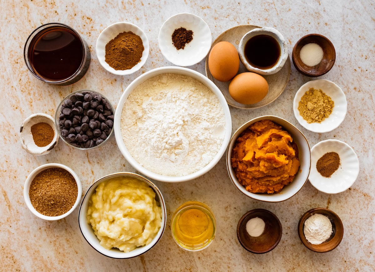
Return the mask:
[[115, 70], [129, 70], [141, 61], [143, 50], [141, 37], [123, 32], [105, 45], [105, 62]]

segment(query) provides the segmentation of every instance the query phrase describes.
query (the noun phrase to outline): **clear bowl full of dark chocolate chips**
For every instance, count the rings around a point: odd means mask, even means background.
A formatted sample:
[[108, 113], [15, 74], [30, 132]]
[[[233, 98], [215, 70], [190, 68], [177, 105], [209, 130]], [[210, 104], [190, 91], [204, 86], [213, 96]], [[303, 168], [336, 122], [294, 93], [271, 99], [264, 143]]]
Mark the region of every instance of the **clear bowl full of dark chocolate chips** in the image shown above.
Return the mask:
[[114, 108], [97, 91], [79, 90], [58, 105], [55, 125], [60, 138], [78, 149], [102, 146], [113, 132]]

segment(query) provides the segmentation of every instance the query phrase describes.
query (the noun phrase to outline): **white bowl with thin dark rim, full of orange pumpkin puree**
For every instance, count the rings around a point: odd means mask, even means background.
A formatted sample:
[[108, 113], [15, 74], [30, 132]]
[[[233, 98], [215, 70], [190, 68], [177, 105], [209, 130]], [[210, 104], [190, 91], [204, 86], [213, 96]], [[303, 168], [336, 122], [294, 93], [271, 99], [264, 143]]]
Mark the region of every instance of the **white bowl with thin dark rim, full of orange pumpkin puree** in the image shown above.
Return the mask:
[[246, 196], [280, 202], [305, 185], [310, 146], [300, 130], [272, 115], [254, 118], [231, 137], [226, 166], [233, 184]]

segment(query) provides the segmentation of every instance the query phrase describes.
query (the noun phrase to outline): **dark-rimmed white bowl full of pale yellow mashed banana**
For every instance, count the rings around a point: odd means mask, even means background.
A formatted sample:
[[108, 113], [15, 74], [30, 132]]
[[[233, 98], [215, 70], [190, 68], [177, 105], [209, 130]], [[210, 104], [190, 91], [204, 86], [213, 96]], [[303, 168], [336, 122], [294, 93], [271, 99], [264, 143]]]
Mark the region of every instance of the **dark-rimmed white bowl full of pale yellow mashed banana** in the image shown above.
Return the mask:
[[150, 250], [166, 226], [160, 190], [135, 173], [104, 176], [87, 190], [78, 212], [86, 241], [99, 253], [129, 259]]

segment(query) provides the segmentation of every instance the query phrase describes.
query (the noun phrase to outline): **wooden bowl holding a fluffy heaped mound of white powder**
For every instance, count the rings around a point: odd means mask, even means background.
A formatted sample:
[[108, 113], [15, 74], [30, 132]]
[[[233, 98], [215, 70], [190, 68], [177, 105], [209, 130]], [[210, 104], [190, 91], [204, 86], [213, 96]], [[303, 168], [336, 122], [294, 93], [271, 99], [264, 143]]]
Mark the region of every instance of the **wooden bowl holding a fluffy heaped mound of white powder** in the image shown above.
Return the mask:
[[309, 250], [325, 253], [340, 244], [344, 236], [344, 226], [335, 212], [326, 208], [314, 208], [300, 218], [298, 235]]

